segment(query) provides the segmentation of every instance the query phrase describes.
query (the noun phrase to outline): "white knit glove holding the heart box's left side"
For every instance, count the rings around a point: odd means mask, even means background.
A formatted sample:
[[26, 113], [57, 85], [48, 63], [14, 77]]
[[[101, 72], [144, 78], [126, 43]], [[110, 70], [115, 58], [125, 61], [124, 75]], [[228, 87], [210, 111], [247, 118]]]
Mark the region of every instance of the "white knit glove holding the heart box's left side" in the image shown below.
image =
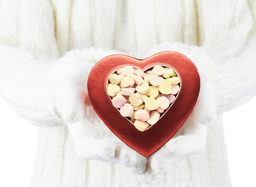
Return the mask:
[[[74, 53], [75, 54], [75, 53]], [[87, 79], [97, 61], [118, 51], [90, 48], [88, 51], [69, 54], [65, 60], [81, 60], [74, 69], [60, 78], [59, 113], [68, 124], [77, 154], [84, 159], [101, 159], [142, 173], [147, 158], [129, 148], [109, 130], [95, 113], [88, 98]]]

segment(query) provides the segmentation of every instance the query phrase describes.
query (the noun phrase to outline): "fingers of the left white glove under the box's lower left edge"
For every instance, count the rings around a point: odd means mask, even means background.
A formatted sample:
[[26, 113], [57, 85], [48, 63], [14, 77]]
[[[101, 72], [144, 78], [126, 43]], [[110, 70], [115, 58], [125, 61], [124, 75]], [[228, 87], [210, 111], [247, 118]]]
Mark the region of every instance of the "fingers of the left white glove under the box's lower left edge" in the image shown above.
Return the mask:
[[[101, 139], [88, 137], [88, 126], [83, 121], [68, 124], [77, 154], [86, 159], [102, 161], [128, 167], [133, 173], [142, 173], [147, 165], [147, 158], [129, 148], [116, 136], [106, 133], [91, 132]], [[111, 134], [113, 135], [113, 133]], [[103, 136], [103, 137], [102, 137]]]

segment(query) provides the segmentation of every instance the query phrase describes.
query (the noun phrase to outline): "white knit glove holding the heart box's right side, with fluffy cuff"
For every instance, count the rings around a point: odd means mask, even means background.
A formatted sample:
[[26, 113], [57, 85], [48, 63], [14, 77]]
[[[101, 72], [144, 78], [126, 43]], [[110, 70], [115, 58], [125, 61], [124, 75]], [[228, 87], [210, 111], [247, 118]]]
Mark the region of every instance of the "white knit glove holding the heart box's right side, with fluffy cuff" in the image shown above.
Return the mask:
[[[181, 52], [196, 65], [200, 75], [200, 92], [194, 109], [188, 119], [160, 150], [148, 158], [147, 170], [140, 176], [143, 182], [155, 184], [156, 180], [172, 165], [177, 164], [189, 155], [200, 153], [206, 144], [206, 124], [216, 118], [213, 84], [203, 71], [211, 70], [211, 63], [204, 51], [198, 47], [189, 47], [181, 43], [164, 43], [151, 50], [148, 56], [164, 50]], [[203, 65], [201, 65], [203, 63]], [[208, 72], [213, 75], [214, 72]]]

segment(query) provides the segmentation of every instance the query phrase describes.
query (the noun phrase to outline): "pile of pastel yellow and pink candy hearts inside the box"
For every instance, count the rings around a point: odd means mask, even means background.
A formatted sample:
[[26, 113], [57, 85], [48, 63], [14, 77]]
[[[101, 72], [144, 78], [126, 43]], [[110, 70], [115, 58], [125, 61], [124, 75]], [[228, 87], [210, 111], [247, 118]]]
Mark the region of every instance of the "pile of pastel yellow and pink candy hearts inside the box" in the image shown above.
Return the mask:
[[121, 116], [145, 131], [174, 103], [180, 91], [180, 77], [164, 65], [154, 65], [146, 72], [127, 65], [108, 76], [106, 87]]

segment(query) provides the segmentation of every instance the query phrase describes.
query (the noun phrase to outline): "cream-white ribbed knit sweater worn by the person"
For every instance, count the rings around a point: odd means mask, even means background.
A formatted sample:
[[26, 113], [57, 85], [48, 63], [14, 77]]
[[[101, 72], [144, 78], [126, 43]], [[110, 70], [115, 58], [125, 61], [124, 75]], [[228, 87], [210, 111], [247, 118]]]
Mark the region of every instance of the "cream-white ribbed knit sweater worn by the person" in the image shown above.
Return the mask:
[[208, 71], [215, 83], [218, 117], [208, 125], [205, 151], [170, 168], [157, 186], [231, 186], [222, 113], [256, 93], [255, 1], [0, 3], [1, 95], [18, 115], [40, 126], [31, 186], [147, 186], [123, 166], [76, 155], [55, 108], [51, 93], [56, 85], [50, 75], [78, 63], [69, 56], [59, 64], [72, 49], [75, 54], [88, 47], [115, 49], [143, 59], [165, 42], [181, 42], [184, 53], [193, 52], [189, 46], [200, 46], [211, 56], [218, 72]]

